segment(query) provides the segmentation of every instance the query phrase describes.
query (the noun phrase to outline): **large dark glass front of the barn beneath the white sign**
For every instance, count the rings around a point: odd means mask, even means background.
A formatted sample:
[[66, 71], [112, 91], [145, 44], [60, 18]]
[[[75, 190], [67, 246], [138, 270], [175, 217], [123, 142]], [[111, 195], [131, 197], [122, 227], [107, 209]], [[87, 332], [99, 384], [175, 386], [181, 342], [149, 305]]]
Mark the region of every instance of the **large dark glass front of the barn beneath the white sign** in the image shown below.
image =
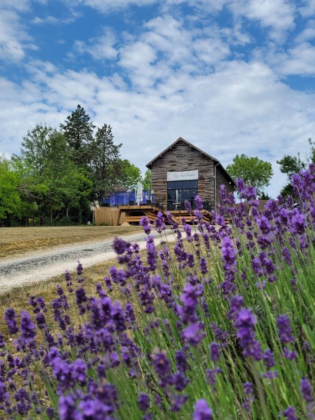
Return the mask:
[[167, 210], [185, 210], [185, 201], [194, 208], [194, 198], [198, 194], [198, 181], [168, 181]]

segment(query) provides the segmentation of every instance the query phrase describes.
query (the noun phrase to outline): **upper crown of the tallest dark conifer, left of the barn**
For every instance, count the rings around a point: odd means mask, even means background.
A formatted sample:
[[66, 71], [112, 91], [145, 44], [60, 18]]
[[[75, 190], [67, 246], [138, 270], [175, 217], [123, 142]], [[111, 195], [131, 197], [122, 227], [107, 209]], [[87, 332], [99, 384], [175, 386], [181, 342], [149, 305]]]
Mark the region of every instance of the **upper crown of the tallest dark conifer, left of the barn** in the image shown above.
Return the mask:
[[71, 152], [71, 159], [80, 167], [87, 168], [91, 162], [95, 125], [90, 122], [89, 115], [81, 105], [64, 122], [60, 124], [60, 128]]

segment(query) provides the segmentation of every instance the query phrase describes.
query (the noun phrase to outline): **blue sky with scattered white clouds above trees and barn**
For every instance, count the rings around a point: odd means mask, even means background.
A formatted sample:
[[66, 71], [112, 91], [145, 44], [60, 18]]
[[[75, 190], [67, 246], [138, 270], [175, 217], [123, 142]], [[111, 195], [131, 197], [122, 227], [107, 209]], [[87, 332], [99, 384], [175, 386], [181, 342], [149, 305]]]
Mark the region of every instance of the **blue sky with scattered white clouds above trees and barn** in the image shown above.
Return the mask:
[[0, 152], [81, 104], [145, 164], [178, 137], [273, 164], [315, 138], [315, 0], [0, 0]]

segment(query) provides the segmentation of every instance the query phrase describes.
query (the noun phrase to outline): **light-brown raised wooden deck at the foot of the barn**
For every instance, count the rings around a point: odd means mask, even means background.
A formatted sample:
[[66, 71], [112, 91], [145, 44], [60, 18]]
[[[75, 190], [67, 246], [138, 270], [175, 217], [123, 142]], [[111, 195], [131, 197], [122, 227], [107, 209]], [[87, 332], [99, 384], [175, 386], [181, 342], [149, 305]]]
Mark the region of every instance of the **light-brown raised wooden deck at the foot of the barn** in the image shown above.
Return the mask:
[[[147, 216], [151, 222], [154, 222], [158, 216], [158, 212], [166, 216], [166, 210], [163, 210], [154, 205], [142, 205], [142, 206], [119, 206], [118, 210], [125, 213], [125, 221], [128, 223], [139, 223], [142, 216]], [[201, 210], [203, 213], [203, 221], [211, 222], [211, 213], [209, 210]], [[191, 215], [186, 210], [171, 210], [172, 219], [178, 224], [182, 224], [182, 218], [184, 217], [187, 223], [191, 223]]]

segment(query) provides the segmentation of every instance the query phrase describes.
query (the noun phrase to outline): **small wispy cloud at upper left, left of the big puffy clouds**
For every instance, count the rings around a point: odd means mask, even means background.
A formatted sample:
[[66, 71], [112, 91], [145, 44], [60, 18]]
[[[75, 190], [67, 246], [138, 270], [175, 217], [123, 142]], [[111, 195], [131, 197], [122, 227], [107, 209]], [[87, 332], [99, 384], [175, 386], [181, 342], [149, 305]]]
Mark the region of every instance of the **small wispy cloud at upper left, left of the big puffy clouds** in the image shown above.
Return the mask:
[[105, 28], [104, 34], [90, 38], [88, 42], [76, 40], [74, 51], [79, 54], [90, 54], [95, 60], [115, 59], [118, 54], [114, 48], [115, 43], [115, 35]]

